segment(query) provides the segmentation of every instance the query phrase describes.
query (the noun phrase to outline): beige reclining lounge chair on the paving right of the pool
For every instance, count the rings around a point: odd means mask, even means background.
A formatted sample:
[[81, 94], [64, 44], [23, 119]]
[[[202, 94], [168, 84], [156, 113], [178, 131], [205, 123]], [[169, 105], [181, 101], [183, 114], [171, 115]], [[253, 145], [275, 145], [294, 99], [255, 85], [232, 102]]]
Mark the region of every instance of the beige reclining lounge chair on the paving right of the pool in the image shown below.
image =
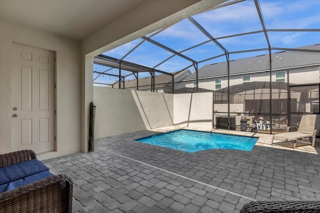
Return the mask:
[[[299, 127], [287, 127], [286, 133], [275, 134], [273, 135], [273, 139], [293, 142], [294, 143], [293, 149], [295, 149], [295, 145], [297, 141], [302, 143], [307, 143], [306, 145], [311, 144], [311, 146], [314, 147], [315, 135], [317, 131], [315, 129], [315, 120], [316, 120], [316, 115], [302, 115]], [[292, 130], [295, 130], [295, 131], [292, 131]], [[312, 137], [312, 143], [301, 140], [302, 138], [309, 138], [309, 137]], [[273, 139], [271, 144], [273, 144]]]

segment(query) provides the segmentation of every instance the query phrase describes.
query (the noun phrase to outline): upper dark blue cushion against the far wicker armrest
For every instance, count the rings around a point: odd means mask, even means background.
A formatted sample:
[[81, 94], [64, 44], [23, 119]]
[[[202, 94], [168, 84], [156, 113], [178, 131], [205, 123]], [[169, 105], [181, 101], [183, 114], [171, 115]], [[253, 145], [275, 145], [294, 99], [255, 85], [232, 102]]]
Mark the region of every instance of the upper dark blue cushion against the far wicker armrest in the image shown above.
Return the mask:
[[49, 168], [47, 168], [37, 159], [32, 159], [17, 164], [11, 164], [6, 167], [1, 167], [0, 185], [16, 181], [18, 179], [25, 178], [44, 171], [48, 172]]

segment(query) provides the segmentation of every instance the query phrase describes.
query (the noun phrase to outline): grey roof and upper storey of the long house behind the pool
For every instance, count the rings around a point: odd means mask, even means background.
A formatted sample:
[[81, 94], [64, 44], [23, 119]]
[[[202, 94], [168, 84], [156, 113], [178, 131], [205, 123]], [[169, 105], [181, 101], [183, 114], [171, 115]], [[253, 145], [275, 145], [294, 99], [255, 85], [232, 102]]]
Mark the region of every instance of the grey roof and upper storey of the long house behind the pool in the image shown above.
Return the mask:
[[[320, 44], [314, 44], [299, 49], [320, 50]], [[272, 53], [272, 81], [287, 82], [290, 73], [290, 84], [319, 83], [320, 53], [281, 51]], [[245, 82], [269, 81], [269, 55], [258, 55], [231, 60], [229, 64], [230, 86]], [[303, 75], [302, 75], [303, 73]], [[303, 77], [302, 77], [303, 76]], [[207, 64], [198, 70], [199, 88], [219, 90], [226, 88], [227, 63]], [[195, 72], [175, 86], [175, 89], [193, 88]]]

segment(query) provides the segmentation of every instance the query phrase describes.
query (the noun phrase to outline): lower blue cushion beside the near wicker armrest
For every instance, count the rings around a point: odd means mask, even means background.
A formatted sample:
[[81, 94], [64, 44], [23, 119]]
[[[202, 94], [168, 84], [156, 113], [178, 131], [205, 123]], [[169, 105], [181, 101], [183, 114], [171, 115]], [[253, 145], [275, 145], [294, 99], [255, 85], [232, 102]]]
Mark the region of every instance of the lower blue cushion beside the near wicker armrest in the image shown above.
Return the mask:
[[16, 181], [12, 181], [6, 184], [2, 184], [0, 185], [0, 193], [6, 192], [6, 191], [10, 191], [10, 190], [14, 190], [18, 187], [24, 186], [26, 184], [31, 184], [33, 182], [42, 180], [44, 178], [50, 177], [52, 176], [51, 173], [49, 173], [48, 171], [44, 171], [44, 172], [40, 172], [34, 175], [30, 175], [28, 177], [25, 178], [21, 178], [18, 179]]

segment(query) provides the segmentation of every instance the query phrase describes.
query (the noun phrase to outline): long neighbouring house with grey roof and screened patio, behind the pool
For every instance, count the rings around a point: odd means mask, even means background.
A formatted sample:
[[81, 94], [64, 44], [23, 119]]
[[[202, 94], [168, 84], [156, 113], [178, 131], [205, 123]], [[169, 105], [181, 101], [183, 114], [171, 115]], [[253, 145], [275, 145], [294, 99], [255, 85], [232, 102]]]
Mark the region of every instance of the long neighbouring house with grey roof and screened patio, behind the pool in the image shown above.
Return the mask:
[[[320, 50], [320, 44], [298, 49]], [[230, 94], [230, 112], [254, 113], [280, 117], [281, 113], [318, 113], [320, 53], [280, 51], [272, 53], [271, 82], [272, 110], [270, 110], [269, 55], [258, 55], [229, 62], [207, 64], [198, 70], [198, 91], [215, 91], [215, 112], [227, 113], [227, 94]], [[196, 87], [195, 73], [179, 82], [177, 91]], [[290, 97], [290, 99], [289, 99]]]

